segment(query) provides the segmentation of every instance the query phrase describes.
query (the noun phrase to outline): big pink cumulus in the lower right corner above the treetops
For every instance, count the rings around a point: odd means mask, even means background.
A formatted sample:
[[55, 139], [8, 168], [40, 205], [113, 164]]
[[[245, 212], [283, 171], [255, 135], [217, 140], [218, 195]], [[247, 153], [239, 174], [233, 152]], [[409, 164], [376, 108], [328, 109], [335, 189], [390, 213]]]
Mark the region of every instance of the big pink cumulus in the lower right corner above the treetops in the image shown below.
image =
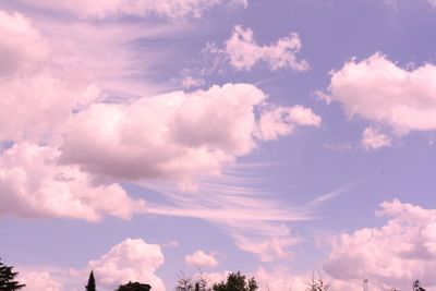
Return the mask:
[[416, 279], [435, 288], [436, 209], [391, 201], [378, 214], [389, 217], [383, 227], [335, 239], [324, 269], [336, 279], [368, 279], [378, 288], [407, 290]]

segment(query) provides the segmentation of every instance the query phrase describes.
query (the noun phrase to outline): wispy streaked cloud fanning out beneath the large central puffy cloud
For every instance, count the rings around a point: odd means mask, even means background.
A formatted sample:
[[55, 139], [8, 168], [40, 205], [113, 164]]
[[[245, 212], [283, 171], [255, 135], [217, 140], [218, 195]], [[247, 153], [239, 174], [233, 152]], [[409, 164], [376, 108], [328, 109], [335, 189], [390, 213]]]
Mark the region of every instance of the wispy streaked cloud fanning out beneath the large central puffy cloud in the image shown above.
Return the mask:
[[239, 165], [229, 168], [221, 175], [197, 181], [197, 193], [145, 184], [172, 203], [172, 206], [149, 203], [147, 211], [205, 219], [230, 235], [240, 250], [263, 262], [291, 258], [290, 247], [301, 240], [288, 223], [314, 219], [311, 209], [280, 203], [275, 196], [277, 190], [254, 186], [258, 180], [253, 177], [253, 167]]

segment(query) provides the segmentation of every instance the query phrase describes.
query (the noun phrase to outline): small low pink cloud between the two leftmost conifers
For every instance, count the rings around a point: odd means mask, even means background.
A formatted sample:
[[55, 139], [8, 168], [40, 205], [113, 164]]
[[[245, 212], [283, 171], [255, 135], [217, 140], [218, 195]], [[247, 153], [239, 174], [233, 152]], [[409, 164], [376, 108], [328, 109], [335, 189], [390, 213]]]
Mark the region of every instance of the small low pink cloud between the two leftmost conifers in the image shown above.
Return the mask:
[[60, 291], [61, 283], [51, 278], [48, 271], [20, 272], [20, 283], [25, 283], [28, 291]]

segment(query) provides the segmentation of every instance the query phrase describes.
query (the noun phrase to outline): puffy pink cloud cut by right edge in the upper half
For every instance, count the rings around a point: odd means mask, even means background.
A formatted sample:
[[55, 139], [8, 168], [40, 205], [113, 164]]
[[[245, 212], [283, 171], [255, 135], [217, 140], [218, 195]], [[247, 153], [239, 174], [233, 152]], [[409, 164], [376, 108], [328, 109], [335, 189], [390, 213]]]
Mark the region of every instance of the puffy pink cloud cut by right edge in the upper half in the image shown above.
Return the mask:
[[405, 70], [380, 53], [347, 62], [331, 75], [331, 99], [350, 117], [390, 125], [397, 134], [436, 130], [436, 66]]

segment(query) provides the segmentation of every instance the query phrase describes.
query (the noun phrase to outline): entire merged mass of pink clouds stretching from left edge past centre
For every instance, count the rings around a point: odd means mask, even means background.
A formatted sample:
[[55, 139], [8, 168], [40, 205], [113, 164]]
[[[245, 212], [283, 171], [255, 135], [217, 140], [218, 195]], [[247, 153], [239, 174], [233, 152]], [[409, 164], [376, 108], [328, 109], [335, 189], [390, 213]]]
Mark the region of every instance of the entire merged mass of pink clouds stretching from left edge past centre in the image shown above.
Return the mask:
[[198, 175], [219, 174], [261, 142], [320, 123], [311, 109], [268, 104], [250, 84], [113, 104], [98, 77], [50, 62], [45, 53], [59, 44], [23, 15], [1, 11], [0, 34], [13, 39], [0, 40], [0, 215], [129, 219], [145, 202], [119, 183], [159, 179], [191, 191]]

